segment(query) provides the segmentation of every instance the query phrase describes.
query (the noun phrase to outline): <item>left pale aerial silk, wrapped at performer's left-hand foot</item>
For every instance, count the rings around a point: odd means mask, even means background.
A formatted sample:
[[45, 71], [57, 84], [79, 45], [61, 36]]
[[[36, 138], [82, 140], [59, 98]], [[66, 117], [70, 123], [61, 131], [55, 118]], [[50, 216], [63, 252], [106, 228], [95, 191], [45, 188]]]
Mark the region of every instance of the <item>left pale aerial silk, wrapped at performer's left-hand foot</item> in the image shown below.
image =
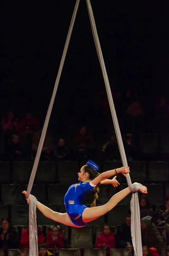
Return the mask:
[[[58, 84], [59, 84], [59, 81], [60, 81], [60, 76], [61, 76], [61, 73], [62, 73], [63, 64], [64, 64], [64, 61], [65, 61], [65, 58], [66, 58], [66, 52], [67, 52], [67, 49], [68, 49], [68, 46], [69, 46], [69, 41], [70, 41], [70, 38], [71, 38], [71, 35], [72, 35], [72, 29], [73, 29], [73, 26], [74, 26], [74, 21], [75, 21], [75, 18], [76, 18], [79, 2], [80, 2], [80, 0], [77, 0], [76, 4], [75, 4], [75, 7], [74, 7], [72, 20], [71, 20], [70, 27], [69, 27], [69, 32], [68, 32], [68, 35], [67, 35], [67, 38], [66, 38], [65, 47], [63, 49], [63, 55], [62, 55], [62, 58], [61, 58], [61, 61], [60, 61], [60, 67], [59, 67], [59, 71], [58, 71], [58, 74], [57, 74], [57, 79], [55, 81], [52, 98], [51, 98], [51, 101], [50, 101], [50, 104], [49, 104], [49, 108], [48, 108], [48, 112], [47, 112], [47, 115], [46, 115], [45, 123], [43, 125], [43, 131], [42, 131], [42, 134], [41, 134], [41, 137], [40, 137], [40, 143], [39, 143], [39, 146], [38, 146], [38, 149], [37, 149], [36, 158], [34, 160], [34, 166], [33, 166], [33, 169], [32, 169], [30, 180], [29, 180], [29, 185], [28, 185], [28, 189], [27, 189], [26, 198], [29, 198], [29, 195], [30, 195], [33, 183], [34, 183], [34, 177], [36, 175], [37, 166], [39, 164], [40, 154], [42, 152], [43, 143], [44, 143], [45, 136], [46, 136], [46, 131], [47, 131], [47, 128], [48, 128], [49, 119], [50, 119], [50, 116], [51, 116], [52, 107], [53, 107], [54, 99], [55, 99], [56, 92], [57, 92], [57, 87], [58, 87]], [[38, 256], [38, 251], [37, 251], [37, 225], [35, 224], [35, 222], [36, 222], [36, 200], [34, 200], [34, 198], [31, 196], [30, 197], [30, 204], [29, 204], [29, 234], [31, 233], [31, 235], [29, 236], [29, 244], [30, 244], [29, 255], [30, 256]], [[35, 226], [36, 226], [36, 229], [35, 229]]]

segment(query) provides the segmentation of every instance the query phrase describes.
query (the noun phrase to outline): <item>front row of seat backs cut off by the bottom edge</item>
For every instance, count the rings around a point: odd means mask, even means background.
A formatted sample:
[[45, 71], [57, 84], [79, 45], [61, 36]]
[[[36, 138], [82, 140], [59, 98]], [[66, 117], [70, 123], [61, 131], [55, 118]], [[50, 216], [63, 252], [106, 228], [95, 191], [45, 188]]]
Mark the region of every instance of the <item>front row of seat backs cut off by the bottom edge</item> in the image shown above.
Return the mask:
[[[54, 250], [49, 249], [55, 256]], [[8, 250], [8, 256], [16, 256], [17, 250]], [[4, 256], [3, 250], [0, 250], [0, 256]], [[26, 256], [29, 256], [29, 250], [26, 250]], [[106, 249], [86, 248], [84, 251], [76, 249], [60, 249], [58, 256], [106, 256]], [[111, 248], [110, 256], [132, 256], [132, 250]]]

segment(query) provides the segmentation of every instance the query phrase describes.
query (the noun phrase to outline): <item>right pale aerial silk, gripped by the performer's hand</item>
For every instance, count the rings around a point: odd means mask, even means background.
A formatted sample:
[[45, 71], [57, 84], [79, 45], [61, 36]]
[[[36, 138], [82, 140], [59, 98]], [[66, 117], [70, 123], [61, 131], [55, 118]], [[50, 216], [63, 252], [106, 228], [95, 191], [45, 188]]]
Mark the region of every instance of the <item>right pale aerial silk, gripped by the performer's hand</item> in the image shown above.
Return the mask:
[[[90, 0], [86, 0], [86, 3], [87, 3], [88, 12], [89, 12], [90, 23], [92, 26], [92, 33], [93, 33], [93, 37], [94, 37], [94, 41], [95, 41], [97, 55], [99, 58], [100, 67], [101, 67], [101, 70], [103, 73], [103, 79], [104, 79], [105, 86], [106, 86], [106, 92], [107, 92], [107, 96], [109, 99], [110, 110], [112, 113], [112, 119], [113, 119], [113, 123], [115, 126], [115, 133], [117, 136], [117, 142], [118, 142], [118, 146], [119, 146], [119, 150], [120, 150], [122, 163], [123, 163], [123, 166], [128, 166], [126, 154], [124, 151], [123, 141], [122, 141], [122, 137], [121, 137], [121, 133], [120, 133], [120, 128], [119, 128], [118, 120], [117, 120], [117, 116], [116, 116], [115, 106], [113, 103], [112, 93], [111, 93], [111, 89], [110, 89], [110, 85], [109, 85], [109, 79], [107, 76], [106, 67], [105, 67], [105, 63], [104, 63], [104, 59], [103, 59], [103, 54], [102, 54], [102, 50], [100, 47], [99, 38], [97, 35], [97, 29], [96, 29], [95, 19], [94, 19], [94, 15], [93, 15], [93, 11], [92, 11], [92, 6], [90, 3]], [[127, 183], [128, 183], [129, 189], [132, 192], [134, 192], [132, 189], [132, 182], [131, 182], [129, 174], [127, 174]], [[141, 256], [142, 255], [142, 244], [141, 244], [141, 228], [140, 228], [140, 207], [139, 207], [137, 192], [133, 193], [133, 195], [132, 195], [130, 207], [131, 207], [131, 212], [132, 212], [131, 232], [132, 232], [132, 243], [133, 243], [133, 248], [134, 248], [134, 255]]]

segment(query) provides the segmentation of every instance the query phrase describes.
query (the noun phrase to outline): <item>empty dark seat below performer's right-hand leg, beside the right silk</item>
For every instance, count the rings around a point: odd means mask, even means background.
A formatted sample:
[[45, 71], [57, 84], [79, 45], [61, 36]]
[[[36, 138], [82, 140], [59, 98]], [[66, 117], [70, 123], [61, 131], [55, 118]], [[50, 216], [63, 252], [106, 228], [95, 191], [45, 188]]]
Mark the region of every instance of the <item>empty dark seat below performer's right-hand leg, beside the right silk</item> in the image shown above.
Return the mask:
[[107, 222], [111, 226], [120, 226], [129, 212], [127, 204], [117, 204], [107, 213]]

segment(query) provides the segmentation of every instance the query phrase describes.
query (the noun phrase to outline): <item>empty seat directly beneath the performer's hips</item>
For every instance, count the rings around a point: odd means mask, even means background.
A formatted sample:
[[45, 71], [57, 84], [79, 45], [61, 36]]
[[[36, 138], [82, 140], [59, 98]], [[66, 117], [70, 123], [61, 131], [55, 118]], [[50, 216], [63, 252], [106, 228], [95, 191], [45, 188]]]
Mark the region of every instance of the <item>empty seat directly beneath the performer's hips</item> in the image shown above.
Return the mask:
[[92, 248], [92, 226], [72, 227], [71, 248]]

